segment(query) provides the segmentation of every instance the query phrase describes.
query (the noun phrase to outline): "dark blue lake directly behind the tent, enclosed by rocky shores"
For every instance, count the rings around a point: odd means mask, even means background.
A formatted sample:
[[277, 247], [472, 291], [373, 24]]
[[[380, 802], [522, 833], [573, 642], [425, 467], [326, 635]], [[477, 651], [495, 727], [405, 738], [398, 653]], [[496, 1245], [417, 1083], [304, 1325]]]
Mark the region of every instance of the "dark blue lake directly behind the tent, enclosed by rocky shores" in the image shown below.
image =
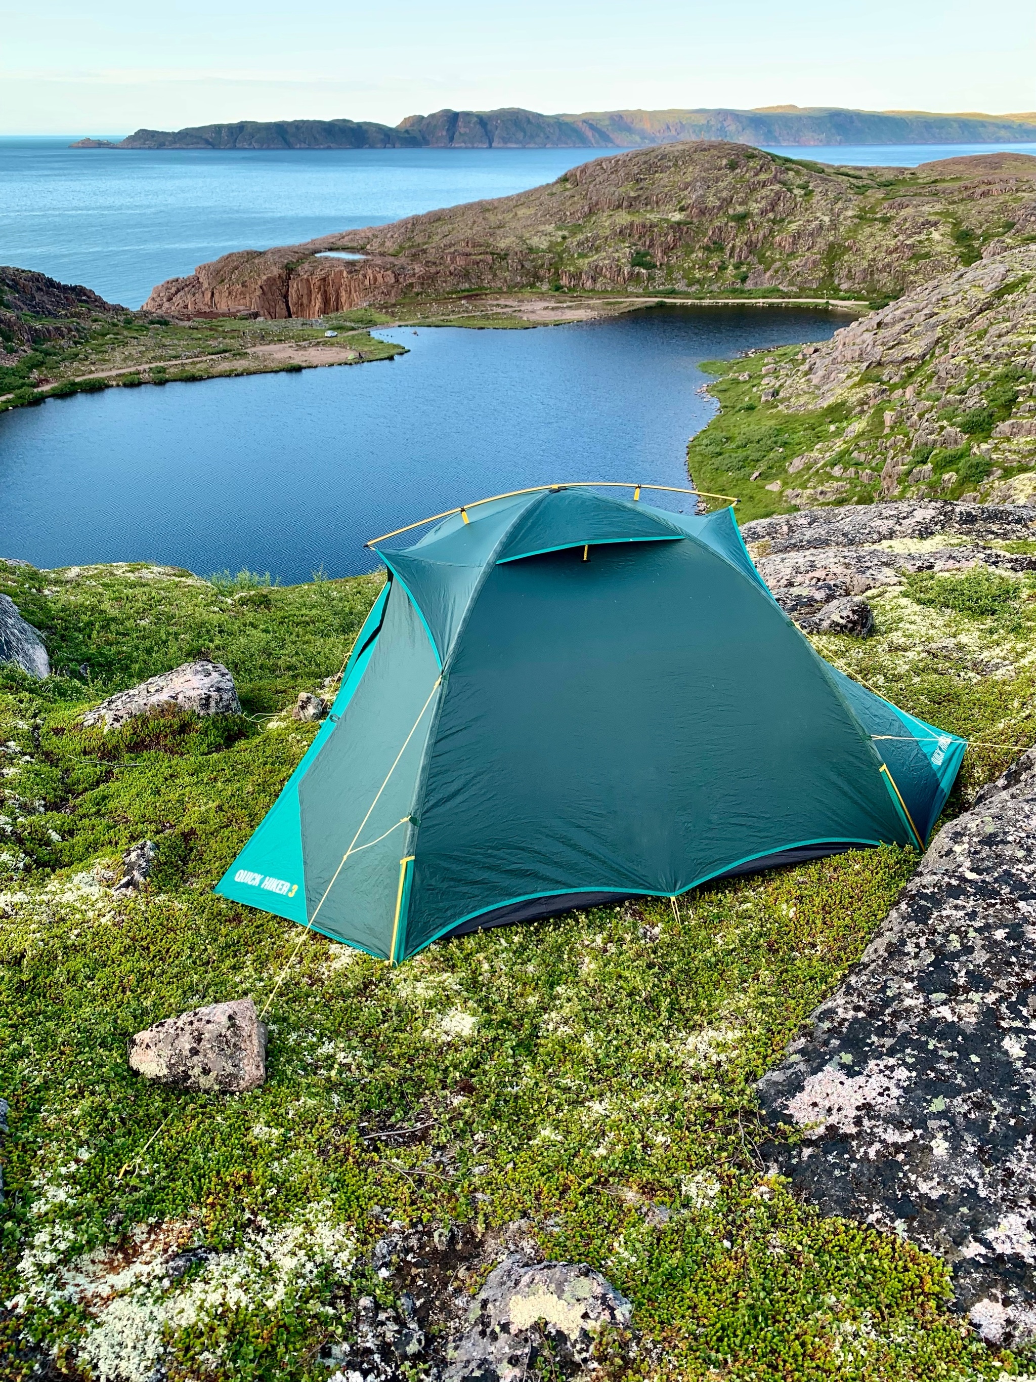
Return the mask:
[[[653, 308], [533, 330], [385, 332], [395, 361], [51, 399], [0, 415], [0, 556], [308, 580], [367, 538], [565, 480], [687, 485], [703, 359], [826, 340], [800, 308]], [[673, 507], [692, 496], [662, 496]]]

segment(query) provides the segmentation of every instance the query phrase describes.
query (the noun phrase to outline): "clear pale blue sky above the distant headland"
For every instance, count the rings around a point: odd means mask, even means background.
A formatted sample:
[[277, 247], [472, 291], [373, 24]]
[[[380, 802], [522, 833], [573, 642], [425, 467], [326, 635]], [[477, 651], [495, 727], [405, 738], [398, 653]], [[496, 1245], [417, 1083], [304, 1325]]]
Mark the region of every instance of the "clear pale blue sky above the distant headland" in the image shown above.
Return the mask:
[[1036, 111], [1036, 4], [46, 0], [0, 33], [4, 134], [782, 102]]

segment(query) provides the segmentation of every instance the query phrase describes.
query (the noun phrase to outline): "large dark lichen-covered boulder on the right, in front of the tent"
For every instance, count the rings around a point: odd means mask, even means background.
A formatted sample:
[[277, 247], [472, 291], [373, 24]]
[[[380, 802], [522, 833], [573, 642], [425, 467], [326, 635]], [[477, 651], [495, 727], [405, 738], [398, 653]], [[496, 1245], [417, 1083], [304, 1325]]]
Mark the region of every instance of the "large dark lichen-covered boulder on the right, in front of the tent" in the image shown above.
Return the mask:
[[945, 825], [760, 1082], [772, 1169], [938, 1252], [995, 1343], [1036, 1335], [1036, 750]]

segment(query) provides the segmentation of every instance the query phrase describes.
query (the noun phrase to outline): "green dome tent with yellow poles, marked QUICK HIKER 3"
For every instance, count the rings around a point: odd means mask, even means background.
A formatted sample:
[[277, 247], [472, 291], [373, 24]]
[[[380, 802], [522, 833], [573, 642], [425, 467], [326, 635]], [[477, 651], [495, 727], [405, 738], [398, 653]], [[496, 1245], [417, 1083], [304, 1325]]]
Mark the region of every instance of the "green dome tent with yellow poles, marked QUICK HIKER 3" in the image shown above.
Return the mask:
[[332, 713], [217, 891], [383, 959], [923, 847], [960, 767], [963, 739], [814, 651], [729, 509], [555, 486], [380, 556]]

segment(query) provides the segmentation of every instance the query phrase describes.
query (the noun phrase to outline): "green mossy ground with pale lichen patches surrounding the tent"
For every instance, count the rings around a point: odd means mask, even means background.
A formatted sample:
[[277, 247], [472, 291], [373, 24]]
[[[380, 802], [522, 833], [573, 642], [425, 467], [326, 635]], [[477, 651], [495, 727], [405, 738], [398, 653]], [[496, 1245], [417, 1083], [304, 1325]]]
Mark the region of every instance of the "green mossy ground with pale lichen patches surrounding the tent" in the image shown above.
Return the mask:
[[[1035, 591], [997, 579], [917, 580], [876, 597], [874, 638], [819, 645], [939, 724], [1032, 742]], [[488, 931], [399, 969], [312, 934], [291, 958], [298, 927], [211, 894], [312, 738], [286, 709], [338, 672], [377, 587], [0, 565], [55, 666], [0, 670], [0, 1375], [52, 1359], [51, 1376], [144, 1382], [160, 1360], [170, 1382], [326, 1379], [349, 1299], [390, 1303], [362, 1265], [385, 1223], [518, 1219], [633, 1299], [645, 1343], [615, 1379], [1017, 1374], [948, 1312], [935, 1258], [767, 1173], [754, 1081], [913, 854]], [[243, 714], [79, 724], [199, 655], [231, 668]], [[1014, 756], [977, 749], [964, 791]], [[115, 900], [142, 837], [156, 871]], [[246, 994], [274, 994], [262, 1089], [184, 1095], [128, 1071], [131, 1032]], [[204, 1251], [156, 1278], [156, 1242]]]

